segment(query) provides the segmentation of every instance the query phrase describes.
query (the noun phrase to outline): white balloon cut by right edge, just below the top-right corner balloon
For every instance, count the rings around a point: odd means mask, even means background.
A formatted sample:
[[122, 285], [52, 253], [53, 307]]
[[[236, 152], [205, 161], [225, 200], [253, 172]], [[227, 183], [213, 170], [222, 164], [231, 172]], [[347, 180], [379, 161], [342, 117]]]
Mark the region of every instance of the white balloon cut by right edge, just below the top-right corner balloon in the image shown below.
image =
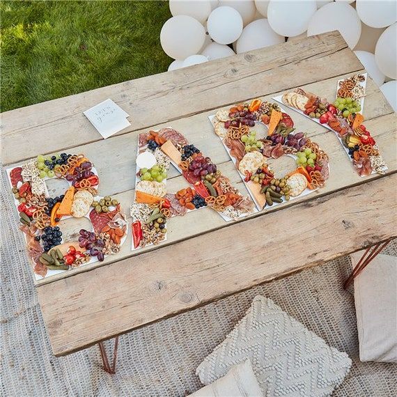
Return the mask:
[[397, 22], [389, 26], [377, 40], [375, 61], [384, 75], [397, 79]]

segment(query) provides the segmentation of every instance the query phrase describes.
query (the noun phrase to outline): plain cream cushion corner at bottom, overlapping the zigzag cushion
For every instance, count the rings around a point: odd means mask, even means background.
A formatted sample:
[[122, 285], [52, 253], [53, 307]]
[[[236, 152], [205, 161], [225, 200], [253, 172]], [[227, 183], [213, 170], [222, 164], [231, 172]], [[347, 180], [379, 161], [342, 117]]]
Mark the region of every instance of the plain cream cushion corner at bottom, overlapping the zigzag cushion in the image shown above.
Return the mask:
[[190, 397], [263, 397], [251, 362], [232, 366], [225, 376], [190, 394]]

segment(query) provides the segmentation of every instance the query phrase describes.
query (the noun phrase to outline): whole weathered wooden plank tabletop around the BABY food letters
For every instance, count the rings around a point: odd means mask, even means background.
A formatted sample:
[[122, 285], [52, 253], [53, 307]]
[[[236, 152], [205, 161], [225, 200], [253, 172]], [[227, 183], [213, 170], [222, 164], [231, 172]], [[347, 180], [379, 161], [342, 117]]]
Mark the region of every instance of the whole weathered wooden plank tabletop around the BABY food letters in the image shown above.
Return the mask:
[[[137, 134], [173, 126], [201, 148], [247, 194], [208, 115], [213, 109], [296, 86], [334, 98], [336, 81], [363, 66], [332, 32], [72, 95], [2, 115], [3, 163], [39, 153], [85, 153], [100, 175], [100, 194], [128, 211], [134, 196]], [[131, 127], [107, 140], [82, 111], [107, 98], [130, 114]], [[324, 189], [226, 223], [204, 209], [169, 221], [159, 247], [123, 249], [94, 263], [37, 283], [54, 355], [62, 356], [151, 322], [188, 311], [265, 281], [320, 265], [396, 235], [396, 115], [368, 79], [366, 127], [386, 160], [385, 176], [360, 178], [333, 132], [294, 111], [298, 130], [330, 157]], [[186, 182], [174, 169], [170, 192]], [[79, 224], [65, 224], [70, 235]]]

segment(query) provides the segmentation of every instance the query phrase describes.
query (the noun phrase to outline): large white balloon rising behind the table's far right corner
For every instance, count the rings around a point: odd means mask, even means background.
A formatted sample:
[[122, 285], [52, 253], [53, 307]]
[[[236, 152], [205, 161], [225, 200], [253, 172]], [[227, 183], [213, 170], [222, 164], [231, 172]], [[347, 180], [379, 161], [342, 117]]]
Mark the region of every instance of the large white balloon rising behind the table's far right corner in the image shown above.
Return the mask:
[[339, 31], [348, 46], [353, 49], [361, 34], [361, 21], [352, 6], [345, 2], [328, 3], [319, 8], [311, 17], [307, 36]]

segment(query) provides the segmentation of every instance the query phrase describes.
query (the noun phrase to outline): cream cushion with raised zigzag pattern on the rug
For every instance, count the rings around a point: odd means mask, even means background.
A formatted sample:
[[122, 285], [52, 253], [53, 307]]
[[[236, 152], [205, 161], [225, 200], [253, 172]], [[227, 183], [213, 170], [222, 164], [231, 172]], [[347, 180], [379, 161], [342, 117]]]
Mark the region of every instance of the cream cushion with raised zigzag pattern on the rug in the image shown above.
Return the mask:
[[196, 374], [210, 384], [248, 358], [264, 396], [328, 396], [352, 364], [346, 353], [260, 295]]

